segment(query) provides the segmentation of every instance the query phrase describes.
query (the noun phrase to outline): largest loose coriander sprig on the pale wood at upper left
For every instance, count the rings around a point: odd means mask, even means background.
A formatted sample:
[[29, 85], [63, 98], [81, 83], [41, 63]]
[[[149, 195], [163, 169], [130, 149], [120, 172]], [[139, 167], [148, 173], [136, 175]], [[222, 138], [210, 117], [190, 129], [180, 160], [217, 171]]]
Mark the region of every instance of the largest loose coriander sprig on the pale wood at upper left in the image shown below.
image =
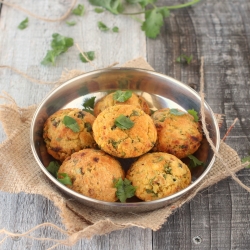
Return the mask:
[[52, 35], [51, 48], [48, 50], [46, 56], [42, 60], [43, 65], [55, 65], [55, 60], [57, 56], [66, 52], [69, 47], [73, 46], [74, 40], [70, 37], [61, 36], [58, 33]]

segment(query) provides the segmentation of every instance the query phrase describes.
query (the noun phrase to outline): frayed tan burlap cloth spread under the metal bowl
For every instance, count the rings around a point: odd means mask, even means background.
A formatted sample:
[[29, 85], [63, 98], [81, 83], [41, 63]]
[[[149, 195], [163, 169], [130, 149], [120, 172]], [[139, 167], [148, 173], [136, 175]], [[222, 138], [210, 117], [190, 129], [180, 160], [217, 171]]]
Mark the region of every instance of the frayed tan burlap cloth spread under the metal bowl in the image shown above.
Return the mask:
[[[123, 66], [152, 70], [142, 58], [132, 60]], [[74, 76], [80, 73], [82, 72], [76, 71]], [[72, 75], [64, 76], [64, 80], [70, 77]], [[62, 240], [61, 244], [73, 245], [81, 238], [91, 238], [94, 235], [107, 234], [132, 226], [158, 230], [175, 209], [190, 201], [198, 191], [230, 175], [217, 158], [209, 174], [192, 192], [167, 207], [139, 215], [103, 212], [86, 207], [78, 202], [66, 200], [40, 170], [33, 157], [29, 142], [30, 123], [37, 106], [20, 108], [8, 95], [2, 98], [6, 99], [6, 103], [0, 106], [0, 121], [7, 140], [0, 145], [0, 189], [10, 193], [40, 194], [53, 201], [65, 225], [62, 232], [67, 235], [67, 239]], [[224, 142], [220, 144], [219, 154], [233, 173], [243, 168], [237, 153]]]

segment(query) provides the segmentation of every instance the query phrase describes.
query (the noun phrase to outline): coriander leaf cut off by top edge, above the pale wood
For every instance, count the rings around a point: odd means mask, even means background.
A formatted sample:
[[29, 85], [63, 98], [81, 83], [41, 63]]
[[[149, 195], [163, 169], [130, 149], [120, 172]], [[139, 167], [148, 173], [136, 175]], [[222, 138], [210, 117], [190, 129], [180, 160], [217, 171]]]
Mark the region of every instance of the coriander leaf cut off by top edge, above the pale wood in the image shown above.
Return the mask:
[[103, 7], [115, 15], [122, 13], [124, 8], [121, 0], [89, 0], [89, 2], [94, 6]]

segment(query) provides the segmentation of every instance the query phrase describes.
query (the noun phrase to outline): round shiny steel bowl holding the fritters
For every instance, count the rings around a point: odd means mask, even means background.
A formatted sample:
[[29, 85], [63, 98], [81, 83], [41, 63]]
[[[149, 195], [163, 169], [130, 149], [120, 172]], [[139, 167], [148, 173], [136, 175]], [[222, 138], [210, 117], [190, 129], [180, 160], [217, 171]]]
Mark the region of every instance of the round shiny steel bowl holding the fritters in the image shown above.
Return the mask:
[[[86, 206], [113, 212], [146, 212], [167, 206], [178, 200], [192, 189], [207, 175], [211, 169], [215, 155], [211, 147], [204, 142], [200, 154], [205, 155], [204, 166], [192, 172], [192, 183], [185, 189], [154, 201], [131, 200], [126, 203], [105, 202], [79, 194], [56, 180], [47, 170], [49, 155], [46, 152], [42, 138], [43, 125], [46, 119], [56, 111], [68, 108], [83, 108], [85, 98], [96, 96], [96, 101], [117, 89], [132, 90], [142, 95], [151, 109], [179, 108], [182, 110], [194, 109], [200, 111], [201, 98], [199, 94], [169, 76], [142, 69], [112, 68], [92, 71], [75, 77], [63, 83], [45, 97], [37, 108], [30, 133], [30, 144], [38, 166], [44, 174], [70, 199], [76, 199]], [[207, 128], [216, 149], [219, 149], [220, 133], [213, 111], [205, 102], [205, 117]]]

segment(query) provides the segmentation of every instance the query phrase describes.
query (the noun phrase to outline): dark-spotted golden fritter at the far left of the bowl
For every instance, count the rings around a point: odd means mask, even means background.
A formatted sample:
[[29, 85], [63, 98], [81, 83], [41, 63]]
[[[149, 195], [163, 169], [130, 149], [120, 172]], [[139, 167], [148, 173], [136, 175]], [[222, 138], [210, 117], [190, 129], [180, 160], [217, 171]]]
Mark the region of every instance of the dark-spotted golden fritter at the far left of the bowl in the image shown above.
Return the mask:
[[[73, 132], [62, 122], [70, 116], [77, 122], [80, 131]], [[43, 138], [47, 151], [55, 159], [64, 161], [66, 157], [83, 148], [96, 146], [92, 125], [95, 117], [77, 108], [62, 109], [51, 115], [44, 124]]]

